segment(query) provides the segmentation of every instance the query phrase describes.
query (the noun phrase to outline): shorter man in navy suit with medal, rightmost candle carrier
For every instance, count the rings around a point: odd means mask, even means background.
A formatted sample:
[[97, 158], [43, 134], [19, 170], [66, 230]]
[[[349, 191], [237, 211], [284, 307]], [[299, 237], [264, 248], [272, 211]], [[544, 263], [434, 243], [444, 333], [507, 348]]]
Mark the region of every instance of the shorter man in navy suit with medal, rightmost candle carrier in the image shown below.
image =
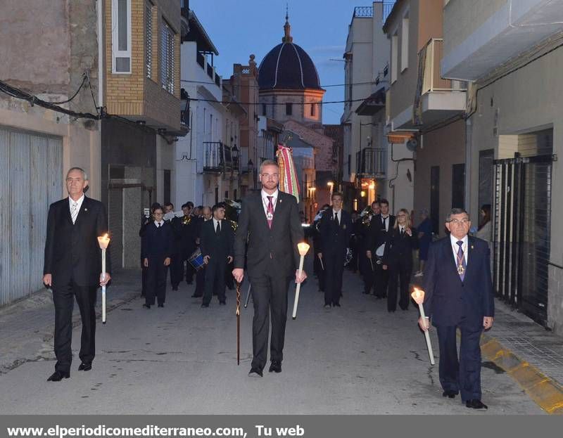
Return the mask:
[[[438, 330], [440, 382], [443, 397], [461, 392], [468, 408], [486, 409], [481, 402], [481, 348], [483, 328], [493, 326], [495, 303], [488, 244], [467, 236], [467, 212], [454, 208], [445, 222], [450, 236], [431, 244], [424, 267], [424, 313]], [[422, 330], [430, 327], [419, 318]], [[457, 359], [456, 329], [461, 332]]]

